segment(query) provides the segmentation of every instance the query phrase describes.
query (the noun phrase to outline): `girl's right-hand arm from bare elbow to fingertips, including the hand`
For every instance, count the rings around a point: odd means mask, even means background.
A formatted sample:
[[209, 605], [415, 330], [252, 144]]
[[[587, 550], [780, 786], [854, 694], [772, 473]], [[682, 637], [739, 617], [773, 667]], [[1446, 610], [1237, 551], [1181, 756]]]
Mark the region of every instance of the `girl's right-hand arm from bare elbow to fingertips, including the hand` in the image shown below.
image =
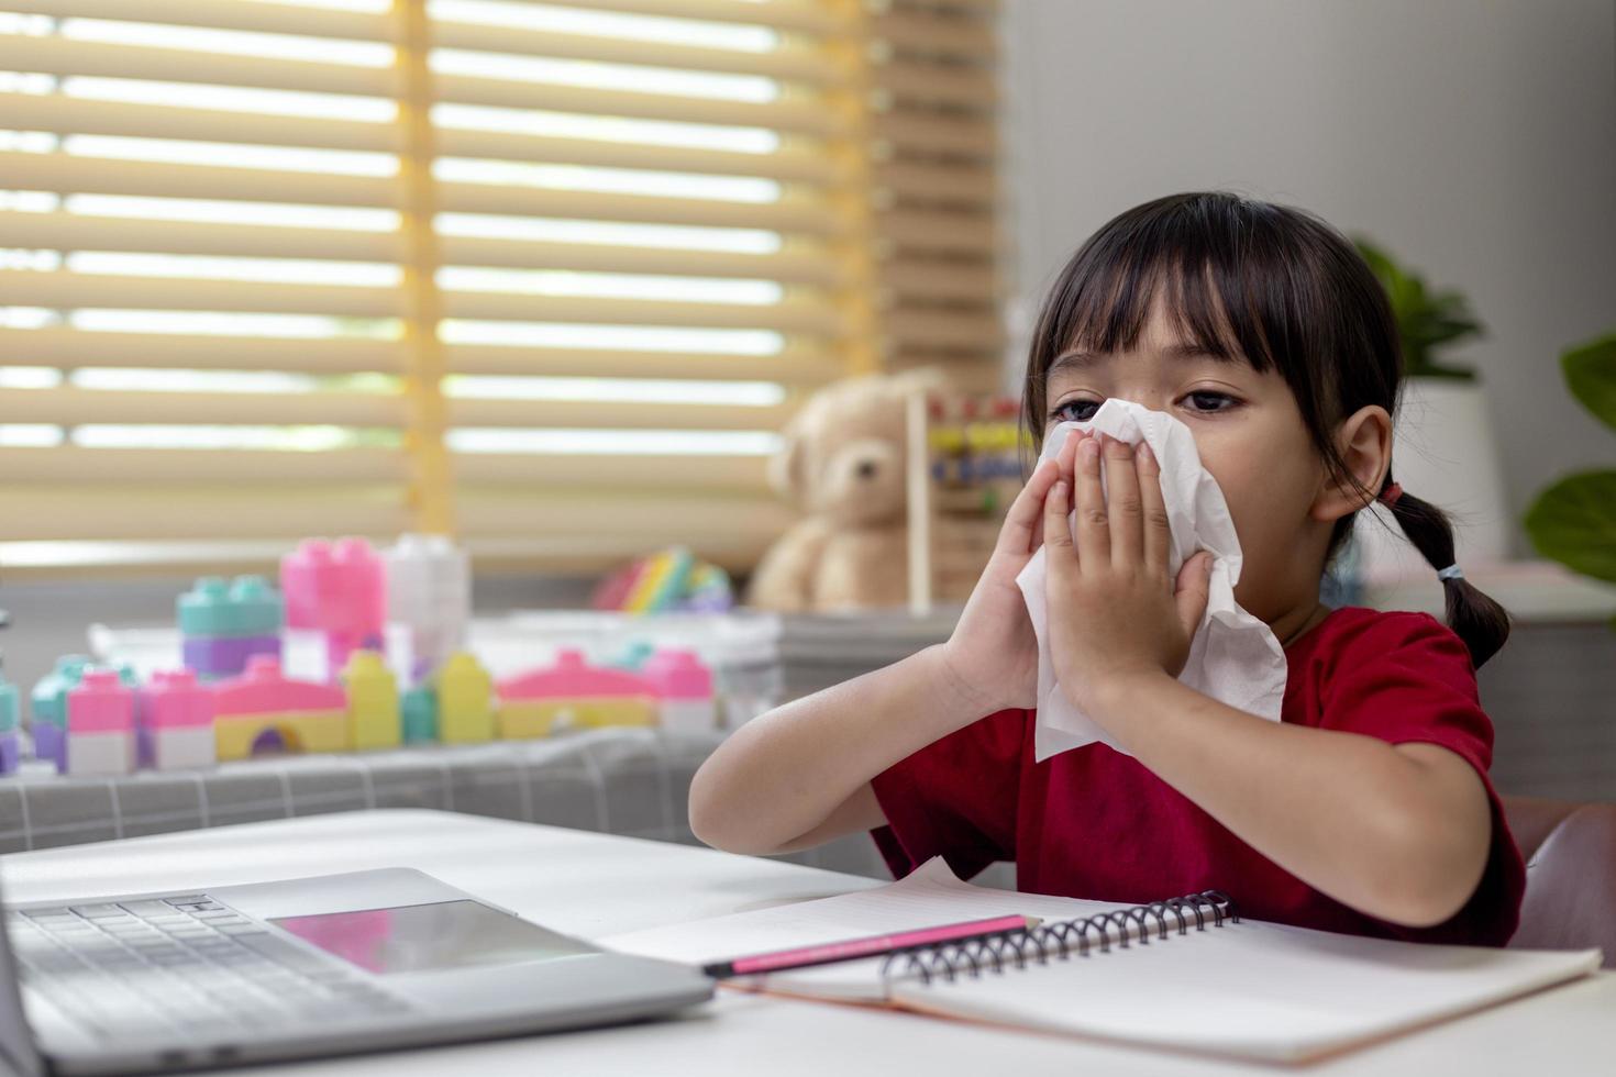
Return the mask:
[[1458, 912], [1492, 841], [1475, 770], [1446, 748], [1267, 722], [1180, 685], [1212, 559], [1186, 562], [1173, 594], [1154, 457], [1107, 441], [1107, 504], [1099, 442], [1083, 442], [1044, 504], [1062, 689], [1141, 764], [1319, 891], [1409, 927]]

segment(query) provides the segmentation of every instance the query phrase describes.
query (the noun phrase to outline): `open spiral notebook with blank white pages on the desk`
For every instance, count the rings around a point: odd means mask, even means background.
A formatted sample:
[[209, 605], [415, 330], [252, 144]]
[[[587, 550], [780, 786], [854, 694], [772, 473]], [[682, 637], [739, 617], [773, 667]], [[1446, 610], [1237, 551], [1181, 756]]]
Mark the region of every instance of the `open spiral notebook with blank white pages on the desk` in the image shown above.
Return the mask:
[[941, 859], [890, 886], [603, 941], [705, 962], [997, 914], [1044, 922], [735, 987], [1304, 1062], [1577, 979], [1601, 959], [1598, 949], [1433, 946], [1262, 924], [1217, 891], [1115, 906], [986, 890]]

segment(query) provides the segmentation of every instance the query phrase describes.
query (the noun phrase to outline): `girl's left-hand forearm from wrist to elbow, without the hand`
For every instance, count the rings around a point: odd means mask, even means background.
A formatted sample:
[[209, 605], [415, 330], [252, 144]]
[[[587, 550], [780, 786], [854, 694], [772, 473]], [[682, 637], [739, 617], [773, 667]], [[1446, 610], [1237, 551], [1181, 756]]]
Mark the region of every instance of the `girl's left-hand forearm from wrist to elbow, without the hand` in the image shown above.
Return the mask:
[[881, 827], [869, 780], [984, 714], [944, 647], [928, 647], [735, 730], [690, 782], [690, 828], [768, 854]]

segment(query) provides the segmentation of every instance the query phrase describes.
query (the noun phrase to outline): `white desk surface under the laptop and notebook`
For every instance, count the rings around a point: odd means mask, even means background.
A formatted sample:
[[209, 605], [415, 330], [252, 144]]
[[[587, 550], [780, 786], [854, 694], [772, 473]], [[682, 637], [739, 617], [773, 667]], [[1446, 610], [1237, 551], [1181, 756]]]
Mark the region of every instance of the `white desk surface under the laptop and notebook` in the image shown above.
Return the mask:
[[[0, 859], [11, 901], [409, 865], [600, 937], [877, 885], [708, 849], [443, 812], [318, 815]], [[688, 1017], [254, 1074], [1610, 1074], [1616, 975], [1597, 975], [1296, 1071], [907, 1014], [721, 993]]]

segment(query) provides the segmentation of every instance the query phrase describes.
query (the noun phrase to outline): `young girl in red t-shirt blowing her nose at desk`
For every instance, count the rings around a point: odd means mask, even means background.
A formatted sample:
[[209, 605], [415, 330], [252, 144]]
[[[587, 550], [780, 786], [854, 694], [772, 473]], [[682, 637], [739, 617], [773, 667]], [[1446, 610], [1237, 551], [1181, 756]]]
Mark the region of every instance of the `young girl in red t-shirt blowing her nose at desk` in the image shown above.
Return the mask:
[[[1110, 221], [1044, 304], [1026, 420], [1041, 438], [1117, 396], [1189, 426], [1239, 533], [1235, 596], [1285, 646], [1281, 722], [1176, 681], [1210, 555], [1170, 580], [1149, 449], [1073, 436], [1010, 507], [953, 636], [739, 730], [692, 783], [693, 830], [735, 853], [873, 830], [895, 875], [1005, 859], [1037, 893], [1217, 888], [1260, 920], [1503, 945], [1526, 872], [1474, 667], [1508, 618], [1453, 567], [1441, 512], [1391, 481], [1399, 367], [1383, 292], [1317, 218], [1186, 194]], [[1438, 570], [1448, 628], [1319, 602], [1375, 497]], [[1033, 762], [1037, 647], [1015, 578], [1039, 544], [1062, 689], [1128, 754]]]

